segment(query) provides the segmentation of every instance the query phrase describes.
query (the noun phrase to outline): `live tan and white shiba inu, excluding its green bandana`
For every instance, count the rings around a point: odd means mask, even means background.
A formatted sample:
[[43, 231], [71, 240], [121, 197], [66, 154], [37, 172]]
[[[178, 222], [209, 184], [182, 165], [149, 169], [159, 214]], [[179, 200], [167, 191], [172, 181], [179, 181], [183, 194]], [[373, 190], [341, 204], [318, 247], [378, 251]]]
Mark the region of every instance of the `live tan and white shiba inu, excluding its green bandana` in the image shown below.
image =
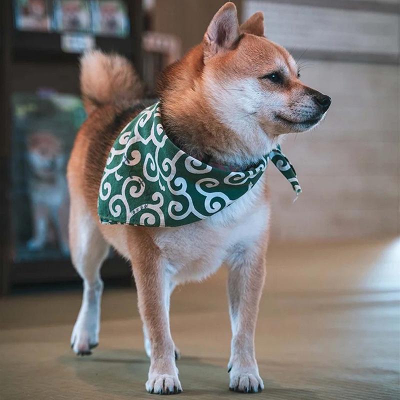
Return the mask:
[[[99, 270], [112, 245], [132, 264], [150, 357], [145, 388], [159, 394], [180, 392], [169, 296], [177, 284], [204, 279], [224, 262], [232, 325], [229, 388], [263, 389], [254, 330], [268, 236], [265, 175], [229, 207], [195, 223], [100, 224], [97, 197], [107, 156], [119, 132], [145, 104], [140, 103], [141, 86], [132, 67], [117, 55], [84, 55], [81, 89], [88, 118], [76, 137], [67, 171], [70, 251], [84, 282], [71, 336], [73, 350], [90, 354], [98, 343], [103, 287]], [[331, 102], [301, 83], [290, 54], [264, 37], [262, 13], [239, 26], [231, 2], [217, 11], [202, 42], [164, 70], [157, 94], [168, 137], [191, 156], [232, 170], [257, 163], [284, 134], [314, 127]]]

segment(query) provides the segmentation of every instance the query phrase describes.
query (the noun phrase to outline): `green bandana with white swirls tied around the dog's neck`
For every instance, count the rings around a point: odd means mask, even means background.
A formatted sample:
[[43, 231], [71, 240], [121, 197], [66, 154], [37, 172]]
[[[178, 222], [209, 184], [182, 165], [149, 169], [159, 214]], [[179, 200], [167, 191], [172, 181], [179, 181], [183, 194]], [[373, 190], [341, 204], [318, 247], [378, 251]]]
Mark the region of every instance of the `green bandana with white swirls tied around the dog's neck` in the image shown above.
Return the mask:
[[179, 226], [205, 219], [250, 190], [268, 159], [298, 195], [301, 188], [295, 171], [279, 146], [245, 171], [213, 167], [172, 143], [162, 127], [157, 102], [122, 129], [110, 150], [98, 195], [100, 221]]

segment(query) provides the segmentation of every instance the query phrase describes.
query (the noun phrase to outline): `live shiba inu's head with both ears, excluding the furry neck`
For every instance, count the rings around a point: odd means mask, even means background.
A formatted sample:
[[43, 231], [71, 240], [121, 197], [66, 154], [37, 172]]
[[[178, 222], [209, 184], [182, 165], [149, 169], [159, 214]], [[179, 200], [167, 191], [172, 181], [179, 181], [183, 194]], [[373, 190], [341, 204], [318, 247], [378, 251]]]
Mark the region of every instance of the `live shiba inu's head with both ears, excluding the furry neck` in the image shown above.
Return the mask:
[[212, 105], [224, 115], [254, 119], [268, 135], [302, 132], [325, 115], [330, 97], [300, 81], [296, 62], [264, 37], [263, 14], [243, 25], [226, 3], [203, 40], [204, 83]]

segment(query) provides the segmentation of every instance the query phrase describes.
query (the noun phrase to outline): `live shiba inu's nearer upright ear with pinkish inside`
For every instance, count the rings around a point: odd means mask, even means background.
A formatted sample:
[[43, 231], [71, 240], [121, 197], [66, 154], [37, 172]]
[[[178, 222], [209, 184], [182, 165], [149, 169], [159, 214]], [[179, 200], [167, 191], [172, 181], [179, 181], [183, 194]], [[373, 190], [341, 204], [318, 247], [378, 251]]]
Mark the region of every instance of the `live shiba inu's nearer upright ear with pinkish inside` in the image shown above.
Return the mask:
[[225, 3], [217, 11], [204, 34], [204, 62], [215, 54], [232, 47], [239, 36], [236, 6]]

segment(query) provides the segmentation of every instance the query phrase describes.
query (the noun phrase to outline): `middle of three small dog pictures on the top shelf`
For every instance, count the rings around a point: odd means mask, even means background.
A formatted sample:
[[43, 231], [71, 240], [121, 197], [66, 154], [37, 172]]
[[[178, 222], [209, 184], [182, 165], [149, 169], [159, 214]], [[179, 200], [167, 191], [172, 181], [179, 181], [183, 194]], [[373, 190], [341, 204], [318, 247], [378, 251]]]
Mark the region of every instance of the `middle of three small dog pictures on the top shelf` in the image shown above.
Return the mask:
[[90, 4], [86, 0], [55, 0], [54, 17], [58, 31], [91, 31]]

